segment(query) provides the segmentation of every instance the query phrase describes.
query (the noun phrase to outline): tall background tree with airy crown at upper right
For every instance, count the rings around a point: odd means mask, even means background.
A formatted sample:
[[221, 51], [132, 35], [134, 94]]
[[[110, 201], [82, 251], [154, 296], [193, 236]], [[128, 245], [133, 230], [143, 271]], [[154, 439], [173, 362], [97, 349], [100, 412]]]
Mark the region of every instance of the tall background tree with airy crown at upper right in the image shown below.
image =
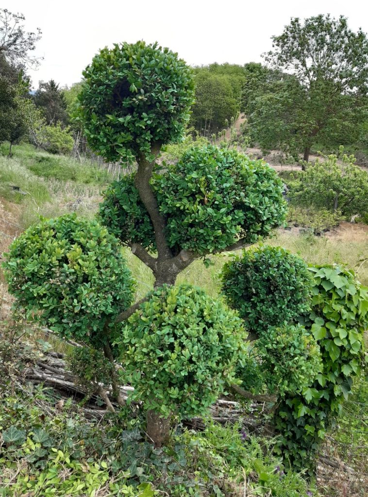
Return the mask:
[[272, 40], [265, 59], [286, 74], [246, 95], [249, 123], [261, 146], [295, 156], [303, 152], [308, 161], [316, 143], [359, 140], [368, 110], [366, 34], [351, 31], [344, 16], [318, 15], [304, 23], [292, 18]]

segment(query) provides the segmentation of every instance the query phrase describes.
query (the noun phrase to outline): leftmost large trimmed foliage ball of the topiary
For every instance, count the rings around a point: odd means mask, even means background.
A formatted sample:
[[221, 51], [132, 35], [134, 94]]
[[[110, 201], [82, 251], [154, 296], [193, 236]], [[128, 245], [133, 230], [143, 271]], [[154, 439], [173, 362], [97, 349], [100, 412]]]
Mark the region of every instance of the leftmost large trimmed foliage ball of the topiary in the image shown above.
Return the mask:
[[129, 307], [133, 281], [118, 240], [96, 221], [44, 219], [10, 245], [3, 263], [9, 292], [27, 317], [94, 345]]

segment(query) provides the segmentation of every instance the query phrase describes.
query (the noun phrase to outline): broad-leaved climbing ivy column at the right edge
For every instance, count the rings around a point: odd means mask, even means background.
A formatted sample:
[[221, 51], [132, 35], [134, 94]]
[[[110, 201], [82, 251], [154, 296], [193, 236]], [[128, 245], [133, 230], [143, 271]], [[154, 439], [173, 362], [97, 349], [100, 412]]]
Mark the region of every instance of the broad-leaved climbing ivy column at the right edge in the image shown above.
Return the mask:
[[289, 395], [275, 415], [279, 450], [298, 469], [313, 468], [324, 438], [352, 392], [364, 360], [368, 288], [338, 265], [309, 268], [314, 286], [311, 312], [302, 318], [320, 347], [323, 370], [301, 394]]

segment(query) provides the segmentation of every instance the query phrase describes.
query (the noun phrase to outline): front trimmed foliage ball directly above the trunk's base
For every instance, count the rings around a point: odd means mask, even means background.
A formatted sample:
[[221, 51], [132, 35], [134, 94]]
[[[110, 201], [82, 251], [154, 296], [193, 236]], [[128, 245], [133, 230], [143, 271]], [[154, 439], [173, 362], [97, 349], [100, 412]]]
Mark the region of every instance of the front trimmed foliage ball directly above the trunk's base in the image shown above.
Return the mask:
[[164, 285], [128, 320], [120, 341], [133, 399], [163, 417], [206, 413], [234, 380], [241, 320], [199, 288]]

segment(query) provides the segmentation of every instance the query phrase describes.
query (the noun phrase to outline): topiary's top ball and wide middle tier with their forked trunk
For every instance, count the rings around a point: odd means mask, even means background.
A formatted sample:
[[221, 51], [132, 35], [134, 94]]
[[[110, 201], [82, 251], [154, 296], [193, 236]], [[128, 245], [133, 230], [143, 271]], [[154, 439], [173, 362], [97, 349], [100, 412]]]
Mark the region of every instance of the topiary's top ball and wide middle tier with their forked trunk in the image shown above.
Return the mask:
[[156, 286], [173, 284], [196, 257], [252, 244], [283, 222], [281, 182], [262, 161], [204, 147], [156, 166], [161, 146], [181, 139], [193, 102], [191, 70], [177, 54], [143, 41], [114, 45], [84, 77], [79, 119], [90, 146], [108, 161], [138, 164], [107, 189], [100, 219], [150, 267]]

